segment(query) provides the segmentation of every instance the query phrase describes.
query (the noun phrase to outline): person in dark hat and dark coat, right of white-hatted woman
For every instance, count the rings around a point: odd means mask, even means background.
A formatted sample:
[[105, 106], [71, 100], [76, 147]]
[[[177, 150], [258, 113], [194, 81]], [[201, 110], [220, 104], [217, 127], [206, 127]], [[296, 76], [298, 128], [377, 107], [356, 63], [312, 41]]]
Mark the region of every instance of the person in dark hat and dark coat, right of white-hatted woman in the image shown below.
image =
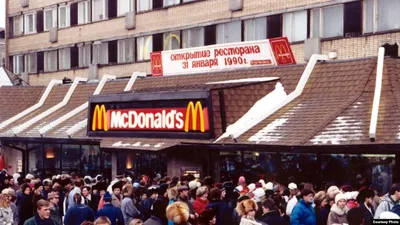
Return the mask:
[[[374, 219], [375, 209], [373, 207], [373, 201], [375, 192], [369, 188], [363, 188], [360, 190], [357, 196], [357, 202], [359, 202], [359, 208], [363, 212], [364, 225], [371, 225]], [[349, 221], [350, 222], [350, 221]]]

